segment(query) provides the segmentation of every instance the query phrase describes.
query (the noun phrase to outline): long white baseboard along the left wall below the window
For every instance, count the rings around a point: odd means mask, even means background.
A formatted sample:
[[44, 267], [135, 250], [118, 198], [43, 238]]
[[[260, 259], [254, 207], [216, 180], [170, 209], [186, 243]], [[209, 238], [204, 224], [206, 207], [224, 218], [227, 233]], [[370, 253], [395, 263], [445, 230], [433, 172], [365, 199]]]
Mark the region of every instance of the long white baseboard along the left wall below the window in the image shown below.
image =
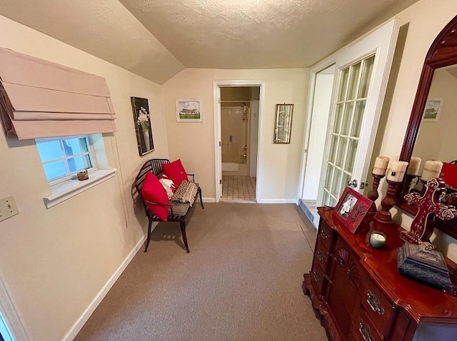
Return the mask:
[[[125, 270], [127, 265], [131, 262], [131, 260], [134, 258], [138, 250], [141, 248], [141, 246], [144, 244], [146, 241], [146, 235], [144, 235], [138, 243], [134, 246], [134, 249], [131, 250], [129, 255], [124, 259], [124, 262], [119, 265], [119, 268], [111, 275], [111, 278], [109, 278], [108, 282], [104, 285], [104, 287], [101, 288], [99, 293], [94, 297], [94, 300], [89, 304], [88, 307], [86, 307], [86, 310], [81, 314], [81, 317], [74, 323], [74, 325], [70, 328], [69, 332], [66, 333], [64, 338], [62, 339], [63, 341], [71, 341], [76, 337], [76, 335], [79, 333], [81, 328], [84, 326], [84, 323], [89, 320], [89, 317], [91, 317], [92, 313], [96, 309], [96, 307], [100, 304], [101, 300], [104, 299], [106, 294], [109, 292], [111, 287], [116, 283], [116, 280], [118, 280], [119, 276], [121, 273]], [[21, 340], [21, 339], [18, 339]]]

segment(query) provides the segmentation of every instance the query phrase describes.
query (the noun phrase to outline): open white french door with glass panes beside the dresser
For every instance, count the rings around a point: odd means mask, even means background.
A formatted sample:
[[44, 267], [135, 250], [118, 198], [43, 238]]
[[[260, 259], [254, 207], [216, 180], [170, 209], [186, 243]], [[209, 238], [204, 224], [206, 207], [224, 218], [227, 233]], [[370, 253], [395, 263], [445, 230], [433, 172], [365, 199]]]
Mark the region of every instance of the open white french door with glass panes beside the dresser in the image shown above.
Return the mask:
[[318, 205], [336, 205], [348, 184], [363, 190], [398, 28], [393, 19], [336, 56]]

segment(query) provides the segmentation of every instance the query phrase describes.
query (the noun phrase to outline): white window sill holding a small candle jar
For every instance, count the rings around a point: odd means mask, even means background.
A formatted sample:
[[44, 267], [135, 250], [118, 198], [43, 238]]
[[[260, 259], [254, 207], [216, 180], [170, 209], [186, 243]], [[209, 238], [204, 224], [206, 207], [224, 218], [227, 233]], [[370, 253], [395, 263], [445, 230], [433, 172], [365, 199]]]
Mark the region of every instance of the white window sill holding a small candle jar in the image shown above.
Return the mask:
[[98, 185], [99, 183], [113, 178], [116, 173], [116, 168], [112, 169], [99, 169], [89, 173], [89, 179], [87, 180], [69, 180], [59, 185], [51, 187], [51, 194], [46, 195], [43, 200], [46, 208], [51, 208], [64, 200], [67, 200], [75, 195], [88, 190], [89, 188]]

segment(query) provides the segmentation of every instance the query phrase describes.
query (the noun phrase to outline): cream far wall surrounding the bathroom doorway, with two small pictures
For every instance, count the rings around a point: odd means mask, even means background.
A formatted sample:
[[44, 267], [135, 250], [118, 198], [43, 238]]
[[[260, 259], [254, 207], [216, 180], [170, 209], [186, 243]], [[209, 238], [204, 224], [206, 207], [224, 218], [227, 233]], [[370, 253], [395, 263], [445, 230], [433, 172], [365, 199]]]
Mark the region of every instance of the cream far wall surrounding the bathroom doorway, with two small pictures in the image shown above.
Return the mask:
[[[217, 70], [187, 68], [164, 84], [164, 113], [172, 159], [181, 158], [190, 173], [196, 173], [205, 198], [214, 199], [215, 143], [213, 81], [265, 80], [264, 117], [261, 118], [261, 200], [296, 201], [308, 85], [306, 68], [268, 70]], [[176, 122], [175, 99], [200, 98], [203, 123]], [[290, 144], [273, 144], [276, 103], [293, 103]], [[262, 115], [262, 113], [261, 113]], [[259, 141], [260, 142], [260, 141]]]

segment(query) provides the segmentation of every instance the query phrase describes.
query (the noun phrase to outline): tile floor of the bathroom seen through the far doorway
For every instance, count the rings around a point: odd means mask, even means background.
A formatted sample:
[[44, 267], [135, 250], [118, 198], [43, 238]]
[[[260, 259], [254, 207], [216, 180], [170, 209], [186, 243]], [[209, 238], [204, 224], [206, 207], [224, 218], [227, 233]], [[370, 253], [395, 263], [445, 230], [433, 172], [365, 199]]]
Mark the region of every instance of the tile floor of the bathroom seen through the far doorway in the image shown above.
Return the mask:
[[222, 175], [224, 201], [256, 201], [256, 178], [249, 176]]

